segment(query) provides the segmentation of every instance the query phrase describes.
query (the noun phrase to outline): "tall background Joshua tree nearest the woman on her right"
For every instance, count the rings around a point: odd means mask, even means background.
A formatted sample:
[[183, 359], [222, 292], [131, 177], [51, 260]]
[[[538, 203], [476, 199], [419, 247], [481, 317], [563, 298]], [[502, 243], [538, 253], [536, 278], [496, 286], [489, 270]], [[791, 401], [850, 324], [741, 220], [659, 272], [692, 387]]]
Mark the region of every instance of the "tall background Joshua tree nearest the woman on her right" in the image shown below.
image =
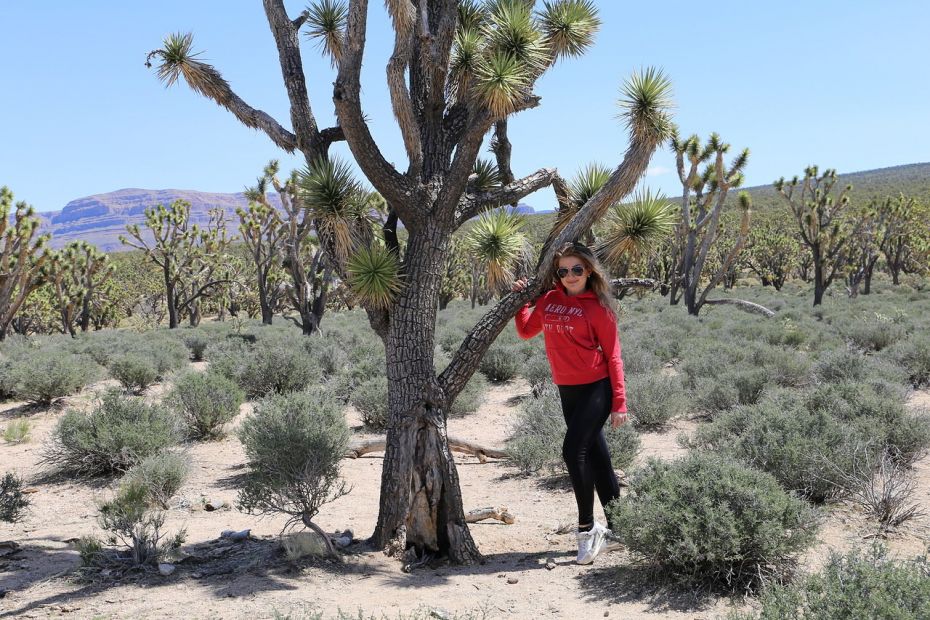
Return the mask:
[[[705, 276], [704, 267], [708, 253], [720, 236], [720, 214], [726, 203], [727, 193], [731, 188], [742, 184], [742, 171], [749, 160], [749, 149], [744, 149], [737, 155], [728, 168], [724, 165], [723, 156], [730, 150], [730, 145], [721, 141], [720, 136], [715, 133], [711, 134], [703, 147], [696, 135], [687, 140], [680, 140], [677, 135], [672, 136], [671, 145], [675, 152], [678, 178], [682, 184], [682, 196], [681, 220], [676, 233], [677, 243], [673, 246], [676, 252], [673, 262], [677, 268], [671, 282], [669, 299], [672, 304], [677, 304], [684, 293], [688, 314], [697, 316], [701, 307], [707, 303], [708, 293], [730, 270], [749, 232], [751, 201], [749, 194], [742, 192], [739, 195], [742, 216], [736, 241], [720, 261], [717, 271], [713, 275]], [[687, 167], [685, 159], [688, 161]], [[704, 163], [707, 163], [704, 170], [699, 171], [698, 168]], [[704, 290], [700, 291], [702, 277], [707, 277], [708, 282]]]

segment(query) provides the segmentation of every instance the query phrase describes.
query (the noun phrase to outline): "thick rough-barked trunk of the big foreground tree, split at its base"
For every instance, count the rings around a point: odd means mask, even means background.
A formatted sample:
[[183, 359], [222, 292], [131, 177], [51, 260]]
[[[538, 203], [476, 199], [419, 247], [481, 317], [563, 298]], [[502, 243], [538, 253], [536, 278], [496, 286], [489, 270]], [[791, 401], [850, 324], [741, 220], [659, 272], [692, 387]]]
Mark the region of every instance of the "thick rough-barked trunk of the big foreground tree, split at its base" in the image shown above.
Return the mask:
[[373, 543], [406, 536], [418, 556], [445, 555], [457, 564], [481, 560], [462, 508], [446, 432], [448, 403], [433, 367], [436, 308], [448, 238], [434, 223], [412, 229], [407, 279], [388, 328], [387, 430], [381, 503]]

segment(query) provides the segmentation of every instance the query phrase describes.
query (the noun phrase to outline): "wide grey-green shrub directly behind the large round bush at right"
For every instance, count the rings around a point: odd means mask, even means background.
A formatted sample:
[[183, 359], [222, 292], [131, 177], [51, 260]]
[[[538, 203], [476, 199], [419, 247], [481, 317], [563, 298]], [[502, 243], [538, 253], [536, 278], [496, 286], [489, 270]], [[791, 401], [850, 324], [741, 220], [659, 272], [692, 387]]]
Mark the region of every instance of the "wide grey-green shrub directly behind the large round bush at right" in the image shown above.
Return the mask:
[[839, 474], [853, 469], [856, 447], [867, 439], [858, 427], [809, 411], [801, 396], [781, 392], [720, 414], [698, 428], [690, 446], [730, 456], [823, 501], [842, 494]]

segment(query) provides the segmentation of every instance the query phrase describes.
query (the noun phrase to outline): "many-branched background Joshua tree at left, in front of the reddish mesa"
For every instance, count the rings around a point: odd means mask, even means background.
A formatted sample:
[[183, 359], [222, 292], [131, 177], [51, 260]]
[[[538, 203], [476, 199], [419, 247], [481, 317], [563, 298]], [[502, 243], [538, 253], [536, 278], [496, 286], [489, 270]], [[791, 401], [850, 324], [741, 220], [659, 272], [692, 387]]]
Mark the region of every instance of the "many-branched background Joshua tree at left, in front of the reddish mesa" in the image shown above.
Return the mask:
[[179, 325], [182, 311], [187, 311], [192, 326], [200, 322], [200, 299], [227, 281], [217, 276], [223, 264], [222, 254], [229, 245], [222, 211], [210, 212], [210, 224], [201, 229], [190, 224], [189, 202], [175, 200], [145, 210], [145, 224], [154, 239], [148, 241], [138, 224], [126, 227], [132, 239], [120, 235], [125, 245], [145, 252], [161, 267], [168, 306], [168, 327]]

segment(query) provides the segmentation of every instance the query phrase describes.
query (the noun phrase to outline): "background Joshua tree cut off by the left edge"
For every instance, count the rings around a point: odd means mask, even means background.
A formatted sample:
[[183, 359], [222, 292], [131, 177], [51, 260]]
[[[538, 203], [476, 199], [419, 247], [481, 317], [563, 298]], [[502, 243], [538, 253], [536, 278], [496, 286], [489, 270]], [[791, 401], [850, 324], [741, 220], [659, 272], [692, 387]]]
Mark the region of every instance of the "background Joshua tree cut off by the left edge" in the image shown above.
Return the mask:
[[39, 235], [35, 210], [23, 201], [16, 203], [13, 221], [13, 192], [0, 187], [0, 340], [16, 311], [32, 291], [42, 285], [41, 269], [48, 259], [43, 251], [48, 235]]

